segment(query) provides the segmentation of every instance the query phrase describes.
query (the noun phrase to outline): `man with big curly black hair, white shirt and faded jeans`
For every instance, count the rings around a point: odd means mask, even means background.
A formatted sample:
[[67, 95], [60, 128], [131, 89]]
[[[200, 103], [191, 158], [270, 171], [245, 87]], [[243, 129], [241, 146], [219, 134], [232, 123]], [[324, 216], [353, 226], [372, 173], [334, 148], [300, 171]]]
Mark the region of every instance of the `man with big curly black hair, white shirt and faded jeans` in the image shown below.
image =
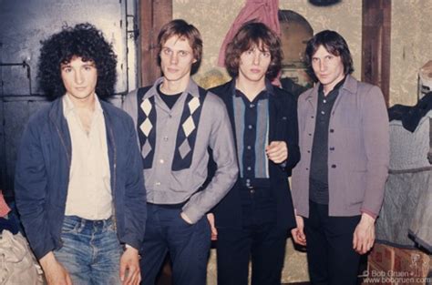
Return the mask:
[[[38, 78], [54, 101], [27, 123], [16, 205], [48, 284], [138, 284], [146, 197], [132, 119], [113, 94], [117, 59], [93, 25], [42, 43]], [[122, 247], [123, 245], [123, 247]]]

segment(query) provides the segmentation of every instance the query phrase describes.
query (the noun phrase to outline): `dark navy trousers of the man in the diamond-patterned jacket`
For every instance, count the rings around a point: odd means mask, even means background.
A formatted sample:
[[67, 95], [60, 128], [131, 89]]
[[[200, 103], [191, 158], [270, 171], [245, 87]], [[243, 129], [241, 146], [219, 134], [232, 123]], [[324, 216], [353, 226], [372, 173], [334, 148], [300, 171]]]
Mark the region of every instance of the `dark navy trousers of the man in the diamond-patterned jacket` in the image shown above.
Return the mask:
[[167, 252], [174, 285], [205, 285], [211, 229], [204, 216], [193, 225], [181, 219], [181, 209], [148, 204], [146, 233], [141, 246], [141, 285], [154, 285]]

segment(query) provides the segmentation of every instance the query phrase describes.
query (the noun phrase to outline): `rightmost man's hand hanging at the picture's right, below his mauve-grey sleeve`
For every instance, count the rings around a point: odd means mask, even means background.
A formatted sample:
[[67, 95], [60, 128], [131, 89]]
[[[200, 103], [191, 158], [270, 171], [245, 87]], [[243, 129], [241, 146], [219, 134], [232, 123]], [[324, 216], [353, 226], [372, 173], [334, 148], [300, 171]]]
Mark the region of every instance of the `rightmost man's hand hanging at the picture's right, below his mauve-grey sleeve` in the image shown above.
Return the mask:
[[360, 222], [355, 227], [353, 249], [359, 254], [365, 254], [372, 249], [375, 241], [375, 219], [363, 213]]

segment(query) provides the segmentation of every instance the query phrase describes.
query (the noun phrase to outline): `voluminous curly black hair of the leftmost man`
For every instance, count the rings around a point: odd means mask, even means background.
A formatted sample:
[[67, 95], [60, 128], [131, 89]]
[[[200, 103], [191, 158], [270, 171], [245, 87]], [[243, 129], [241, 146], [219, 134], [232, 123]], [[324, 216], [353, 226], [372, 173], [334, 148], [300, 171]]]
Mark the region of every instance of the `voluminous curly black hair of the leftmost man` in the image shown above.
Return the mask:
[[62, 97], [66, 93], [61, 78], [61, 64], [73, 57], [93, 61], [98, 70], [96, 94], [106, 98], [114, 94], [117, 81], [117, 56], [112, 46], [94, 25], [83, 23], [74, 27], [63, 26], [62, 30], [41, 41], [37, 78], [40, 88], [48, 97]]

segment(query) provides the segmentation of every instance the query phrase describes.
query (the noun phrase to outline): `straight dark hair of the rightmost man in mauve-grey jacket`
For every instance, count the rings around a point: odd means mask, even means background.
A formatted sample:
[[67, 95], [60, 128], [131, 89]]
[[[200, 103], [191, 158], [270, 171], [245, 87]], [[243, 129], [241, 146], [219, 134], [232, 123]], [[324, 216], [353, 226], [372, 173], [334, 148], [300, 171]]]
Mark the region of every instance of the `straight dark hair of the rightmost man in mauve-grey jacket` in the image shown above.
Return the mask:
[[324, 46], [325, 50], [334, 56], [341, 56], [345, 76], [354, 72], [353, 57], [344, 37], [337, 32], [324, 30], [311, 38], [306, 46], [305, 61], [307, 73], [314, 81], [318, 81], [318, 78], [315, 76], [314, 68], [312, 67], [312, 58], [320, 46]]

